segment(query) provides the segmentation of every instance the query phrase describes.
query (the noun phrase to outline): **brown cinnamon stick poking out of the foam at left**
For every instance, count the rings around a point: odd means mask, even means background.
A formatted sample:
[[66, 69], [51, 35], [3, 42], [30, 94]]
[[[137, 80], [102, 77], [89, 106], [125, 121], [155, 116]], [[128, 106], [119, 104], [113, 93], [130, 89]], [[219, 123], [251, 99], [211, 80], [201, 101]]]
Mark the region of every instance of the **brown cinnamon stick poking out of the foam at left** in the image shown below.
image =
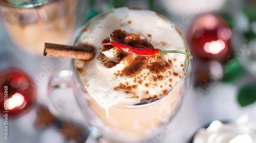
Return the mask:
[[91, 46], [70, 46], [45, 43], [44, 56], [89, 60], [94, 56]]

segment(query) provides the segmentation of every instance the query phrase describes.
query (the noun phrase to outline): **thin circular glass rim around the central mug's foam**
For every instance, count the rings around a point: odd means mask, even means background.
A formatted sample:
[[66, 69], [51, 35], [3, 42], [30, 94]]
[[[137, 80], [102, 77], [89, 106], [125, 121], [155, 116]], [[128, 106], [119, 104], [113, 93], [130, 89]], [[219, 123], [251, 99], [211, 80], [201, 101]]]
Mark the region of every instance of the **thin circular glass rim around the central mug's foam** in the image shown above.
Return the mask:
[[[133, 9], [133, 8], [129, 8], [129, 7], [121, 7], [121, 8], [128, 8], [128, 9], [132, 9], [132, 10], [138, 10], [138, 9]], [[119, 8], [115, 8], [115, 9], [119, 9]], [[104, 16], [105, 14], [111, 13], [111, 12], [113, 12], [115, 9], [111, 9], [111, 10], [109, 10], [109, 11], [105, 11], [105, 12], [101, 12], [101, 13], [97, 14], [96, 16], [94, 16], [93, 18], [91, 18], [89, 21], [87, 21], [87, 22], [81, 27], [81, 30], [84, 29], [84, 28], [87, 28], [87, 27], [90, 25], [90, 23], [91, 23], [92, 21], [94, 21], [94, 19], [97, 19], [97, 18], [99, 18], [99, 17], [102, 17], [102, 16]], [[151, 10], [150, 10], [150, 11], [151, 11]], [[166, 17], [163, 16], [163, 15], [159, 15], [159, 16], [161, 16], [162, 18], [164, 18], [164, 19], [170, 21], [168, 18], [166, 18]], [[172, 21], [171, 21], [171, 22], [172, 22]], [[177, 32], [180, 33], [180, 31], [179, 31], [179, 29], [178, 29], [177, 27], [176, 27], [176, 30], [177, 30]], [[82, 31], [81, 31], [80, 33], [78, 33], [78, 35], [76, 36], [76, 38], [75, 38], [75, 40], [74, 40], [74, 43], [73, 43], [74, 46], [76, 46], [76, 45], [78, 45], [78, 44], [80, 43], [80, 36], [81, 36], [81, 34], [82, 34]], [[184, 43], [184, 45], [185, 45], [185, 49], [188, 51], [188, 53], [190, 53], [190, 52], [189, 52], [189, 49], [188, 49], [188, 44], [187, 44], [187, 42], [186, 42], [184, 36], [181, 35], [181, 38], [182, 38], [183, 43]], [[77, 60], [77, 59], [71, 59], [71, 69], [72, 69], [72, 72], [73, 72], [73, 76], [76, 78], [77, 82], [80, 84], [82, 90], [84, 90], [84, 91], [87, 92], [87, 89], [83, 86], [83, 83], [82, 83], [81, 80], [80, 80], [79, 72], [76, 70], [76, 60]], [[179, 84], [177, 84], [172, 90], [170, 90], [170, 92], [168, 92], [168, 94], [167, 94], [165, 97], [163, 97], [162, 99], [165, 99], [165, 98], [167, 98], [168, 96], [170, 96], [173, 92], [175, 92], [175, 91], [178, 89], [177, 87], [180, 87], [181, 84], [184, 83], [185, 79], [188, 77], [187, 73], [189, 72], [189, 69], [188, 69], [189, 65], [190, 65], [190, 57], [187, 56], [187, 57], [186, 57], [186, 60], [185, 60], [185, 63], [184, 63], [184, 67], [183, 67], [183, 68], [184, 68], [184, 72], [186, 73], [186, 75], [184, 75], [184, 78], [182, 78], [182, 80], [179, 82]], [[89, 95], [89, 96], [90, 96], [90, 95]], [[91, 97], [91, 98], [92, 98], [92, 97]], [[137, 108], [137, 107], [141, 108], [141, 107], [149, 106], [149, 105], [151, 105], [151, 104], [155, 104], [155, 103], [157, 103], [157, 102], [160, 102], [162, 99], [156, 100], [156, 101], [154, 101], [154, 102], [147, 103], [147, 104], [141, 104], [141, 105], [124, 105], [123, 107], [124, 107], [124, 108], [127, 108], [127, 107], [129, 107], [129, 108], [131, 108], [131, 107], [133, 107], [133, 108]]]

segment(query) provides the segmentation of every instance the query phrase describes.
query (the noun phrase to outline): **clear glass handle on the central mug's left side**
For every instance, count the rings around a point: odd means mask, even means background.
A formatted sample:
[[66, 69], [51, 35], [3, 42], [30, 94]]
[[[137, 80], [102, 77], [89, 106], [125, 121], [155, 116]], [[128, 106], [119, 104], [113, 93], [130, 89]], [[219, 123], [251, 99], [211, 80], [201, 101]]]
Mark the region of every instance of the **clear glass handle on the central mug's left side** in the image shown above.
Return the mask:
[[71, 70], [61, 70], [48, 85], [48, 108], [57, 117], [86, 124], [74, 97]]

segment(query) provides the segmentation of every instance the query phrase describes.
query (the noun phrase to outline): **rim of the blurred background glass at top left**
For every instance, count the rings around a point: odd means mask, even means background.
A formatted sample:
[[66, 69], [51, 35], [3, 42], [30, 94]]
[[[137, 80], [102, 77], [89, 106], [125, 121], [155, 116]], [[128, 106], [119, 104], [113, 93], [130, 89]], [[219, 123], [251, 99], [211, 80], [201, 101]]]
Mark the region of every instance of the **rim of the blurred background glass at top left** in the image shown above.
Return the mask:
[[34, 0], [30, 2], [18, 2], [15, 0], [7, 0], [7, 1], [0, 0], [0, 6], [17, 8], [17, 9], [29, 9], [29, 8], [40, 7], [42, 5], [53, 3], [55, 1], [58, 1], [58, 0]]

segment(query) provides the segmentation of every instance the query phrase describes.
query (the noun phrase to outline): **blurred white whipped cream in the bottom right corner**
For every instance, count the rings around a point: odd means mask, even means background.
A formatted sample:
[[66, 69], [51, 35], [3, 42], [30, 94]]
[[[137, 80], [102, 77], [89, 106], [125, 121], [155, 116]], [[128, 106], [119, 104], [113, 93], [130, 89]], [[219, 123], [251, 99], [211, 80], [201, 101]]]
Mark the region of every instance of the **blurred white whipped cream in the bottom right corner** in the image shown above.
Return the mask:
[[243, 115], [235, 122], [223, 124], [216, 120], [205, 129], [200, 129], [194, 143], [255, 143], [256, 123], [248, 122], [248, 116]]

